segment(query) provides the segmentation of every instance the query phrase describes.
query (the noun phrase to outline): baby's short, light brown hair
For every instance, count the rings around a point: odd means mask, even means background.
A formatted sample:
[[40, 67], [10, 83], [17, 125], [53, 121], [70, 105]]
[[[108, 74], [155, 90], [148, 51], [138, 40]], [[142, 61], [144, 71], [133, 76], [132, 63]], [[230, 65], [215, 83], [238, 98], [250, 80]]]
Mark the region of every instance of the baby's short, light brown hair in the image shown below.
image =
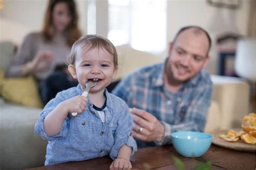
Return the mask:
[[86, 35], [79, 38], [72, 46], [70, 55], [68, 56], [68, 64], [75, 64], [77, 53], [80, 52], [84, 47], [86, 47], [88, 51], [94, 49], [95, 47], [105, 49], [113, 56], [114, 67], [118, 67], [116, 47], [114, 47], [109, 39], [99, 35]]

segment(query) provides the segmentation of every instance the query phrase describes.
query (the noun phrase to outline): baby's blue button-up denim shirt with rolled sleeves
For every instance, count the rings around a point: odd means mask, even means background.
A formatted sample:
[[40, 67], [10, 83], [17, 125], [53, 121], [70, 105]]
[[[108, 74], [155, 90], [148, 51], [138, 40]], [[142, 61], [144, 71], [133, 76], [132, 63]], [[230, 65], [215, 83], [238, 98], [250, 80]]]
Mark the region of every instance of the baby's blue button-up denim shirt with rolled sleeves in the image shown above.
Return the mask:
[[132, 118], [129, 107], [120, 98], [107, 92], [105, 116], [102, 123], [89, 100], [87, 111], [76, 117], [68, 115], [62, 130], [56, 135], [47, 135], [43, 121], [58, 104], [64, 100], [82, 94], [78, 84], [68, 90], [59, 92], [56, 98], [49, 101], [40, 113], [35, 125], [35, 133], [47, 139], [45, 165], [59, 164], [68, 161], [82, 161], [104, 155], [115, 159], [122, 145], [132, 147], [132, 154], [137, 150], [136, 141], [132, 137]]

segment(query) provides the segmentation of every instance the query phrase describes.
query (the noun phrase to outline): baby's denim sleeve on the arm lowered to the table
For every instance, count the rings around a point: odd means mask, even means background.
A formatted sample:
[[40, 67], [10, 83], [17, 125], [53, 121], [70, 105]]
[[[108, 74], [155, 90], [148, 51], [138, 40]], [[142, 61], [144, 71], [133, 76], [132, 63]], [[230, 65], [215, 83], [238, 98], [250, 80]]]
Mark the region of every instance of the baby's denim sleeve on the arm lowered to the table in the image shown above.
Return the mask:
[[119, 148], [123, 145], [130, 146], [132, 148], [132, 155], [137, 151], [137, 144], [132, 137], [132, 117], [129, 112], [129, 108], [126, 104], [122, 104], [122, 113], [118, 115], [117, 130], [114, 133], [114, 145], [110, 150], [110, 157], [116, 159]]

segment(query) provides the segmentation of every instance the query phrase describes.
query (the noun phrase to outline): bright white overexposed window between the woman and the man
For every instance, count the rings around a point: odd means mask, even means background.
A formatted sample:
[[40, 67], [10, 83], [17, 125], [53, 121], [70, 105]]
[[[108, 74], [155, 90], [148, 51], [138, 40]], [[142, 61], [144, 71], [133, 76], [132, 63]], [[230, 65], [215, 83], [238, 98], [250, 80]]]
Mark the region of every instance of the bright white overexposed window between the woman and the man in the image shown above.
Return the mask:
[[[134, 49], [151, 53], [161, 53], [166, 49], [167, 1], [109, 0], [108, 6], [108, 13], [104, 15], [108, 16], [107, 38], [114, 45], [129, 44]], [[91, 8], [88, 9], [88, 17], [93, 16], [90, 15], [93, 5], [88, 4], [88, 8]], [[89, 25], [88, 21], [88, 28]]]

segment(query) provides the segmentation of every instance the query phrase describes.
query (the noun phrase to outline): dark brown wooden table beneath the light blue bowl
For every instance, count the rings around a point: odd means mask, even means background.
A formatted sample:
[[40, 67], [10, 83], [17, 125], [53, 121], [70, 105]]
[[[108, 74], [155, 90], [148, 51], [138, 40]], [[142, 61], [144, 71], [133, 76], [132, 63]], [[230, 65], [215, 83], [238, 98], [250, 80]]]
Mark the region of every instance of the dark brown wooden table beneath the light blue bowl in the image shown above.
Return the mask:
[[[201, 162], [212, 162], [211, 169], [256, 169], [255, 152], [241, 152], [211, 145], [210, 149], [199, 158], [186, 158], [179, 155], [172, 145], [164, 147], [147, 147], [139, 149], [131, 158], [133, 169], [176, 169], [172, 157], [176, 156], [184, 162], [186, 169], [193, 169]], [[67, 162], [36, 168], [43, 169], [109, 169], [110, 157], [96, 158], [80, 162]]]

